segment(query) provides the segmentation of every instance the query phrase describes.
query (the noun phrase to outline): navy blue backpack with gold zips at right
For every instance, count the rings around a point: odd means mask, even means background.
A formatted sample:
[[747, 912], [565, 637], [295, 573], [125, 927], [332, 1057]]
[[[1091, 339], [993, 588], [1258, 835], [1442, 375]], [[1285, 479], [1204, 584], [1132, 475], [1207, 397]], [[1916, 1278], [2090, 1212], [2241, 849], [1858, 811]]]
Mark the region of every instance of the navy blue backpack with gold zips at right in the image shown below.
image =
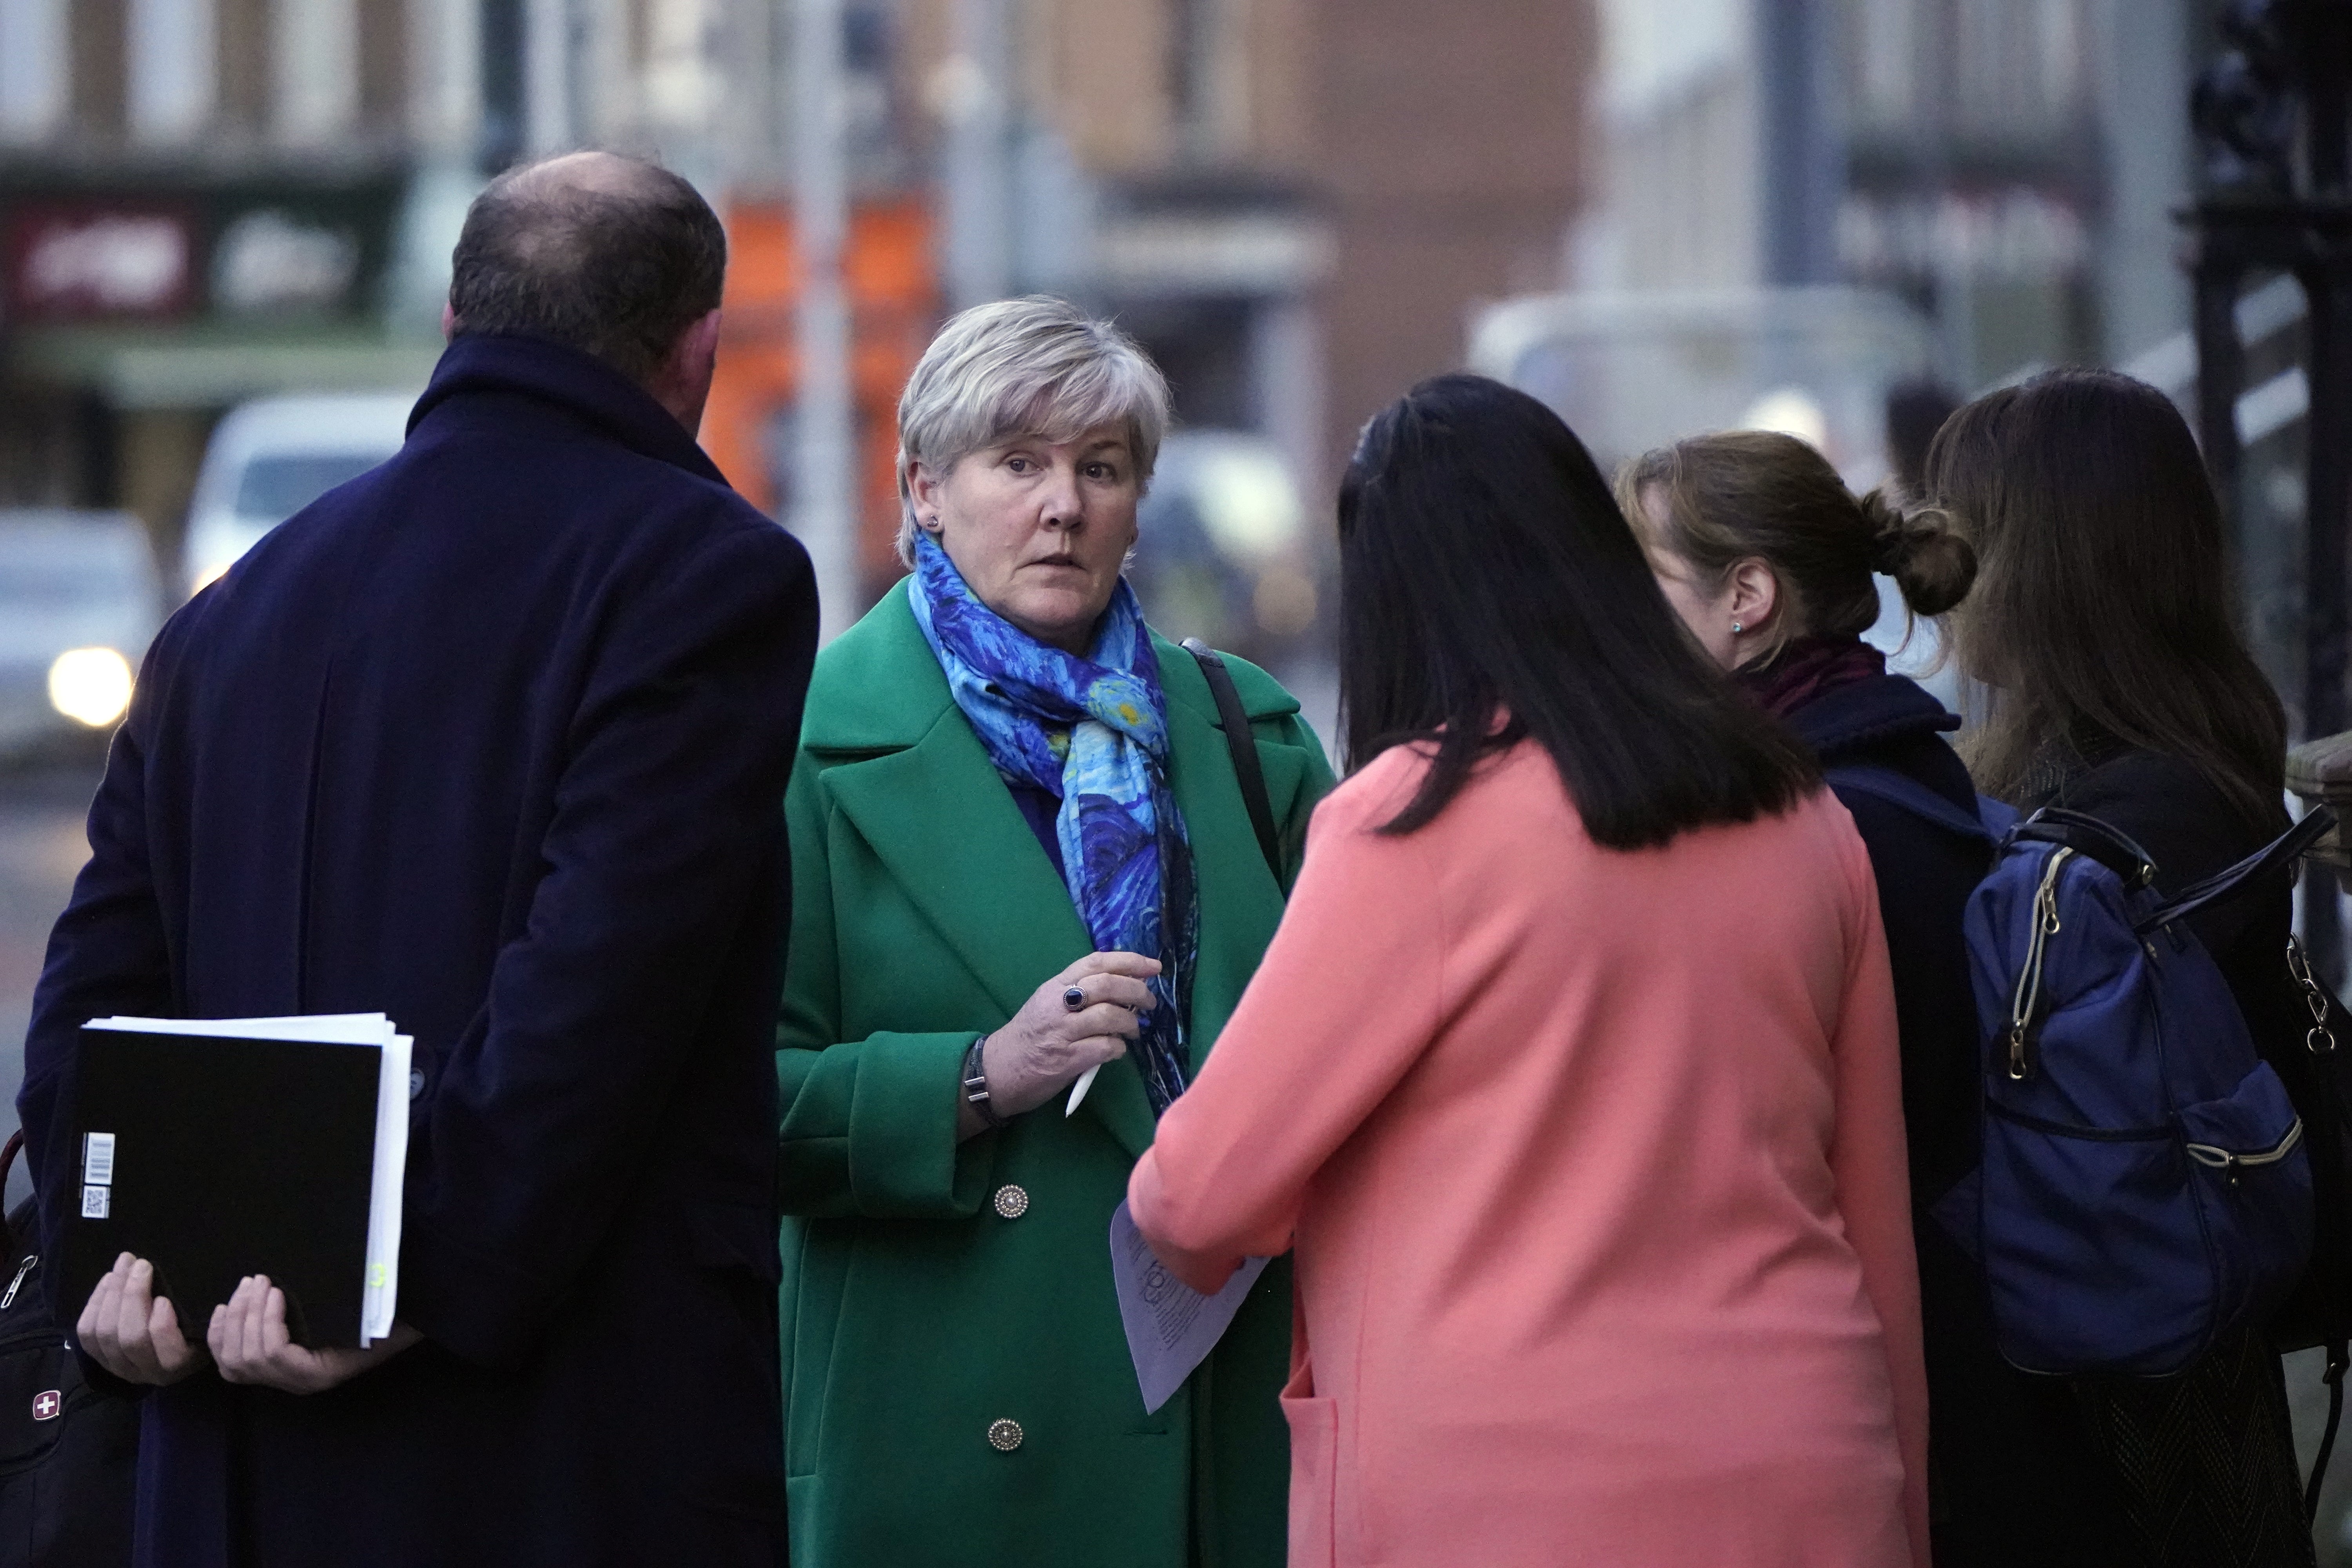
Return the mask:
[[1983, 1265], [2002, 1356], [2032, 1373], [2178, 1373], [2263, 1321], [2312, 1255], [2303, 1121], [2185, 917], [2333, 825], [2317, 809], [2173, 898], [2098, 818], [1980, 816], [1879, 766], [1830, 783], [1992, 846], [1964, 933], [1983, 1164], [1933, 1215]]

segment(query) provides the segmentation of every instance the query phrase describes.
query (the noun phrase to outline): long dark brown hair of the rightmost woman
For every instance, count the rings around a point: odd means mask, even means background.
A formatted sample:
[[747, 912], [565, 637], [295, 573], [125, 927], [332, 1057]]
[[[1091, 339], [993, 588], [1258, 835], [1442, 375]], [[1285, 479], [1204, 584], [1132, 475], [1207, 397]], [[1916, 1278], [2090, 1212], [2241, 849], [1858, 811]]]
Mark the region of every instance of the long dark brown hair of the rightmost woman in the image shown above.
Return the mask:
[[2286, 717], [2230, 623], [2220, 508], [2164, 393], [2100, 369], [1990, 393], [1936, 433], [1924, 484], [1978, 557], [1952, 614], [1987, 689], [1962, 743], [1978, 788], [2027, 795], [2053, 748], [2119, 743], [2279, 816]]

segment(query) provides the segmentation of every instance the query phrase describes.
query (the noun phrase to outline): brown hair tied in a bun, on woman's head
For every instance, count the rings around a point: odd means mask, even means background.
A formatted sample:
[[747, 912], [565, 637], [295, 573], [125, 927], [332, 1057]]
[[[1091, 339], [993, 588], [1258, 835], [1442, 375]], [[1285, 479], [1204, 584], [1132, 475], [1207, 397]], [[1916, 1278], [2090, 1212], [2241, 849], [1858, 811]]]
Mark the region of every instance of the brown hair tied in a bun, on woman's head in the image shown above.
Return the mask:
[[[1663, 524], [1642, 505], [1658, 491]], [[1724, 430], [1646, 451], [1618, 470], [1618, 505], [1635, 531], [1719, 590], [1743, 559], [1780, 588], [1773, 646], [1799, 637], [1860, 637], [1879, 618], [1884, 571], [1919, 616], [1959, 604], [1976, 552], [1936, 510], [1905, 510], [1882, 489], [1856, 496], [1792, 435]]]

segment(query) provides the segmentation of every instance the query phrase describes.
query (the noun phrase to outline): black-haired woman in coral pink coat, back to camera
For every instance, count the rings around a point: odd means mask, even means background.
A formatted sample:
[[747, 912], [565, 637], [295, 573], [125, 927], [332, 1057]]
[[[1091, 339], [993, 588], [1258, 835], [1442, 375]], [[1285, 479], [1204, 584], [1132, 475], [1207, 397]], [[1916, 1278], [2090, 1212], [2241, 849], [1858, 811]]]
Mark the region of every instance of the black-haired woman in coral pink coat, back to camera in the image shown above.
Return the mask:
[[1291, 1568], [1926, 1563], [1870, 860], [1576, 437], [1423, 383], [1341, 496], [1355, 776], [1129, 1185], [1296, 1248]]

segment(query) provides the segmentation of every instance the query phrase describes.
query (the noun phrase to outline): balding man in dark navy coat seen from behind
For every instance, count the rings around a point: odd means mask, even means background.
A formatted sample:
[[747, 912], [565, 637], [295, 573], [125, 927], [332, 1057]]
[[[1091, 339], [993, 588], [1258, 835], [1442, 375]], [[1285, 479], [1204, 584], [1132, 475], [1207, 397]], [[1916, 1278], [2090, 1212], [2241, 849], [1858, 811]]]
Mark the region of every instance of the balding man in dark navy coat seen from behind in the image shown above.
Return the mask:
[[[783, 1559], [781, 799], [807, 555], [694, 444], [724, 233], [583, 153], [466, 219], [383, 468], [148, 654], [19, 1095], [54, 1237], [87, 1018], [383, 1011], [416, 1037], [400, 1333], [78, 1321], [146, 1399], [139, 1561]], [[103, 1371], [99, 1371], [103, 1368]]]

